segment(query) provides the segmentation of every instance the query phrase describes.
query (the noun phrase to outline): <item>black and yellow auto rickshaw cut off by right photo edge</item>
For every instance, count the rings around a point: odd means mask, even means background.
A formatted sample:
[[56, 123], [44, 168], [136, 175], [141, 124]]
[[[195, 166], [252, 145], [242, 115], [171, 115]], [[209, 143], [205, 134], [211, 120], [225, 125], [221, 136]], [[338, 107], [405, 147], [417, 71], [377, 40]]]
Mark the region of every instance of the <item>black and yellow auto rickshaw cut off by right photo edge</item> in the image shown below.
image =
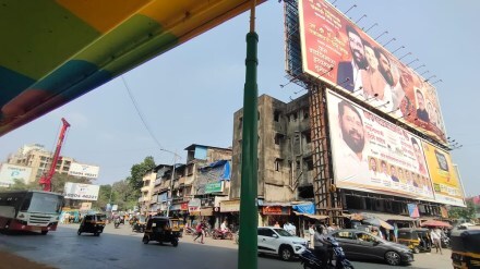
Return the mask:
[[451, 247], [455, 269], [480, 269], [480, 230], [454, 230]]

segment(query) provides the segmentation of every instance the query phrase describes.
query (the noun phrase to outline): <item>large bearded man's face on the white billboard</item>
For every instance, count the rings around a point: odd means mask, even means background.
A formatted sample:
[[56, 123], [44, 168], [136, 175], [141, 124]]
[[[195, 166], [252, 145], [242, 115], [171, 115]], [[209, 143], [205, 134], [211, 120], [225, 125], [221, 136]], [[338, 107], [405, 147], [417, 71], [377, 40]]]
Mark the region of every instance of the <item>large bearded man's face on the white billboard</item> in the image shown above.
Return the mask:
[[351, 150], [361, 152], [365, 144], [363, 123], [350, 107], [345, 107], [344, 114], [340, 115], [340, 129], [344, 140]]

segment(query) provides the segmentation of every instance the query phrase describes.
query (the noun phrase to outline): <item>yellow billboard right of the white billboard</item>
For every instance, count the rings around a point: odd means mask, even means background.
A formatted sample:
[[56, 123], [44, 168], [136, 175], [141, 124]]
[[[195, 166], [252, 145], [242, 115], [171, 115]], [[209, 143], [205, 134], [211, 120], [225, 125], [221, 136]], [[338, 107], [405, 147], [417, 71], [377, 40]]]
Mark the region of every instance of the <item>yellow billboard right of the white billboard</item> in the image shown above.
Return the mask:
[[454, 206], [465, 206], [464, 193], [448, 152], [422, 143], [433, 182], [435, 200]]

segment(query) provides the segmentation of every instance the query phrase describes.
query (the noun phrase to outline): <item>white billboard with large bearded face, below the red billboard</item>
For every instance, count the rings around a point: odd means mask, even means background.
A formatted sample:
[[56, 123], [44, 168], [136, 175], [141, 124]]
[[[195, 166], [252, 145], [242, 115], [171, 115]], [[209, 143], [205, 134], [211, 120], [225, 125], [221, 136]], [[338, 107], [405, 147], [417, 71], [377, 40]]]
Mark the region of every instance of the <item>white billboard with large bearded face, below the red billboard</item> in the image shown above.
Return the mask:
[[327, 91], [337, 187], [433, 200], [421, 140]]

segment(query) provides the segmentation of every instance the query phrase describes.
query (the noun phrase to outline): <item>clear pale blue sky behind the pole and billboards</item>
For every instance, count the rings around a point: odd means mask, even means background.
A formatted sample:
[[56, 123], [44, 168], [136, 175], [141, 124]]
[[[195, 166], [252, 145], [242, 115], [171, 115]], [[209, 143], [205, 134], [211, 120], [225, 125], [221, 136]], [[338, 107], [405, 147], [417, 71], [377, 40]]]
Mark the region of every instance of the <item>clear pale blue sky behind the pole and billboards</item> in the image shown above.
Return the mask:
[[[463, 144], [453, 150], [467, 195], [479, 195], [477, 151], [480, 140], [477, 86], [480, 63], [480, 1], [337, 0], [337, 8], [368, 29], [381, 44], [392, 38], [391, 51], [412, 54], [403, 59], [413, 66], [425, 64], [425, 76], [435, 84], [447, 135]], [[191, 144], [229, 147], [233, 112], [242, 107], [245, 76], [245, 34], [249, 16], [242, 14], [123, 75], [148, 127], [163, 148], [177, 151]], [[300, 88], [281, 88], [285, 77], [283, 3], [267, 1], [257, 8], [259, 91], [288, 102]], [[417, 64], [418, 63], [418, 64]], [[432, 81], [434, 81], [432, 78]], [[0, 161], [24, 144], [43, 144], [53, 149], [61, 118], [71, 127], [62, 155], [100, 167], [97, 183], [125, 179], [130, 168], [146, 156], [156, 163], [172, 163], [171, 154], [159, 147], [145, 126], [120, 77], [76, 100], [0, 137]]]

